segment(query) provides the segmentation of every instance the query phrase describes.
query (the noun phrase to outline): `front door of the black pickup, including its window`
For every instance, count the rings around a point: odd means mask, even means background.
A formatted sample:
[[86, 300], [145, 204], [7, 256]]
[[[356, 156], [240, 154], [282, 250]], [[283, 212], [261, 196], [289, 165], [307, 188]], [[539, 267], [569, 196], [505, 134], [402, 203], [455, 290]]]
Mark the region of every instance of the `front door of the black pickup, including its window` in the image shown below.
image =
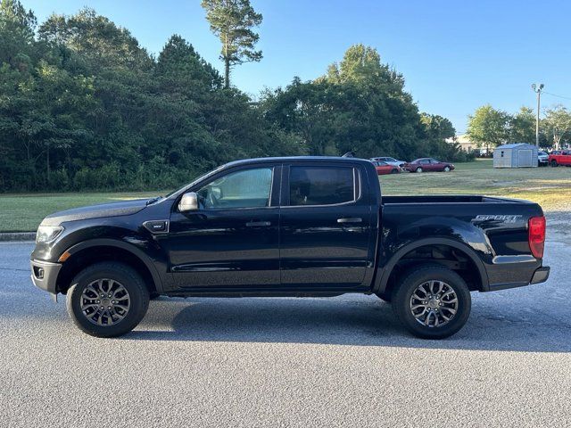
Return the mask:
[[170, 270], [183, 289], [276, 287], [281, 166], [221, 174], [193, 189], [198, 210], [172, 212]]

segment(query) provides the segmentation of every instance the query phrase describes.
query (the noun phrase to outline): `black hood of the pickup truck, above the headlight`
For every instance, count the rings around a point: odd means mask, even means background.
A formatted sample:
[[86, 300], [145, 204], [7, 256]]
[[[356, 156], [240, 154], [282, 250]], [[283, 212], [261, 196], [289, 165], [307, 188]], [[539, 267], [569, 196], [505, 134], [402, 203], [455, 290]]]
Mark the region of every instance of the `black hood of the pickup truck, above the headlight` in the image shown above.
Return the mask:
[[146, 202], [147, 199], [137, 199], [58, 211], [44, 218], [40, 226], [60, 226], [65, 221], [87, 220], [89, 218], [128, 216], [143, 210], [146, 207]]

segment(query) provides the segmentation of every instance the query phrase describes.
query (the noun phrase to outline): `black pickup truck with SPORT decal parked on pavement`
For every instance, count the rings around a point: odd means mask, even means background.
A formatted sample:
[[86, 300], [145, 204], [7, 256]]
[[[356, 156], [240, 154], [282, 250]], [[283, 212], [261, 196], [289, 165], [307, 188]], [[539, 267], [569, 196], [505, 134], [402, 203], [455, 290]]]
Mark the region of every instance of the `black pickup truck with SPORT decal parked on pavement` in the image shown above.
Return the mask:
[[370, 161], [228, 163], [165, 197], [46, 217], [32, 280], [67, 294], [85, 333], [132, 330], [166, 296], [377, 294], [411, 333], [466, 323], [470, 292], [547, 280], [539, 205], [485, 196], [381, 196]]

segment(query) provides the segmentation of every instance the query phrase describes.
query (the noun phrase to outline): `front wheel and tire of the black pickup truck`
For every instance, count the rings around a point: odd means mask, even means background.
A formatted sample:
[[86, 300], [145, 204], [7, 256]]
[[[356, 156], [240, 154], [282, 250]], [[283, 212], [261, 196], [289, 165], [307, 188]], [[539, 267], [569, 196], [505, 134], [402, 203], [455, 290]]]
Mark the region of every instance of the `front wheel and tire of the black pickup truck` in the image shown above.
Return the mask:
[[[100, 304], [103, 306], [98, 307]], [[111, 311], [104, 309], [107, 305]], [[149, 291], [141, 276], [127, 265], [95, 263], [73, 278], [66, 306], [82, 332], [95, 337], [117, 337], [133, 330], [145, 317]]]

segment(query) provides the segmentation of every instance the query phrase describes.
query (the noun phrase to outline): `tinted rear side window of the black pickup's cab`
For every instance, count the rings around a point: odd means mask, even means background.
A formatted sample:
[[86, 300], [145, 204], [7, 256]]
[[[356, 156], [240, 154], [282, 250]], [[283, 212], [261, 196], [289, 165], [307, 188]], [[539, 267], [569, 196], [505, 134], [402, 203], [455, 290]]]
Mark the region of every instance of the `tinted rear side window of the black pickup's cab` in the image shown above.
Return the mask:
[[355, 174], [351, 167], [291, 167], [289, 204], [334, 205], [355, 200]]

